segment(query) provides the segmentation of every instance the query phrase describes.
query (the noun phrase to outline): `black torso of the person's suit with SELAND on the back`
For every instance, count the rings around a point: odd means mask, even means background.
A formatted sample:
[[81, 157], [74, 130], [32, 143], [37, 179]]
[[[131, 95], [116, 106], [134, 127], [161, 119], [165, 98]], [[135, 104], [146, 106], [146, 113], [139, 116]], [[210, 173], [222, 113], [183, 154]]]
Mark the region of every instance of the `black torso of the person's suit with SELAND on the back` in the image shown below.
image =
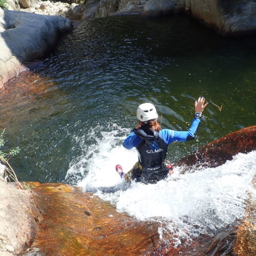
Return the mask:
[[139, 163], [142, 167], [161, 166], [166, 158], [168, 144], [159, 137], [159, 133], [150, 130], [147, 124], [142, 125], [135, 134], [142, 138], [137, 147]]

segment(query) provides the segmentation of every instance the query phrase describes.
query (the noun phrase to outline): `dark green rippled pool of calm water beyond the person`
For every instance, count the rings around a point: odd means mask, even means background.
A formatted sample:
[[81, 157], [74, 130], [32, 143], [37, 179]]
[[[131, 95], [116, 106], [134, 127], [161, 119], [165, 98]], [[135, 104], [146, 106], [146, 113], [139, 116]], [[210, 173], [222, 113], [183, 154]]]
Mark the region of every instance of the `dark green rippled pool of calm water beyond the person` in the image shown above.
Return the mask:
[[102, 133], [117, 130], [120, 145], [145, 101], [174, 130], [188, 129], [198, 96], [210, 101], [197, 140], [169, 146], [173, 162], [254, 125], [255, 46], [255, 36], [224, 38], [183, 15], [81, 22], [43, 65], [0, 92], [5, 149], [22, 149], [11, 160], [18, 178], [76, 183], [88, 170], [65, 180], [70, 165], [93, 157]]

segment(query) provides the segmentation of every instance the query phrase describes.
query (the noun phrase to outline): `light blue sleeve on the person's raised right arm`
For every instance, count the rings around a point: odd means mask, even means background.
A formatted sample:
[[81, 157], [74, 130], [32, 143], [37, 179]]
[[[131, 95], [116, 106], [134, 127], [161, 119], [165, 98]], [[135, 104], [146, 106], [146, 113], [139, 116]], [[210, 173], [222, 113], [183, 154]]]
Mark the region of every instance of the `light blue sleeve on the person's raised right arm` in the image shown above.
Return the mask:
[[194, 118], [188, 131], [173, 131], [169, 129], [161, 130], [159, 135], [167, 143], [174, 141], [188, 141], [195, 139], [201, 120]]

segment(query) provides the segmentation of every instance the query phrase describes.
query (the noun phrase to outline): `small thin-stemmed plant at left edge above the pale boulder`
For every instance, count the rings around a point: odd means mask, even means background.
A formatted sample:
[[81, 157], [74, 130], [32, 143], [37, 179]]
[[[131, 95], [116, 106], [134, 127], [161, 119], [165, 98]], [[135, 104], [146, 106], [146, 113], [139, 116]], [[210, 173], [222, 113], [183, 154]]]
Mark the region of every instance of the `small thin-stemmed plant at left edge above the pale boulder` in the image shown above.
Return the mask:
[[[6, 141], [5, 141], [4, 135], [5, 135], [5, 129], [3, 129], [2, 132], [0, 133], [0, 147], [5, 145]], [[0, 162], [2, 162], [6, 166], [6, 168], [5, 168], [5, 179], [6, 179], [6, 181], [13, 180], [13, 181], [18, 183], [20, 188], [24, 189], [22, 184], [19, 183], [13, 168], [9, 164], [9, 160], [13, 156], [17, 155], [19, 152], [20, 152], [19, 147], [15, 147], [15, 148], [11, 149], [8, 153], [5, 153], [2, 150], [0, 150]]]

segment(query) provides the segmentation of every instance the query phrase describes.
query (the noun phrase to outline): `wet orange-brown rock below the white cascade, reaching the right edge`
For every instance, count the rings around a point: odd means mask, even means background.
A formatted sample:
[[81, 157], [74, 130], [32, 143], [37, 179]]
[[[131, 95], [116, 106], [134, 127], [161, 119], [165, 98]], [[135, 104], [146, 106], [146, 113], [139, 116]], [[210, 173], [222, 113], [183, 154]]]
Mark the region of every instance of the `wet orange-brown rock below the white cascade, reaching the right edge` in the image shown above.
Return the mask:
[[[159, 233], [164, 224], [139, 221], [110, 203], [66, 184], [35, 184], [33, 197], [44, 220], [34, 255], [253, 255], [255, 201], [248, 201], [244, 221], [235, 221], [215, 236], [202, 235], [175, 245], [172, 234]], [[36, 254], [37, 255], [37, 254]]]

